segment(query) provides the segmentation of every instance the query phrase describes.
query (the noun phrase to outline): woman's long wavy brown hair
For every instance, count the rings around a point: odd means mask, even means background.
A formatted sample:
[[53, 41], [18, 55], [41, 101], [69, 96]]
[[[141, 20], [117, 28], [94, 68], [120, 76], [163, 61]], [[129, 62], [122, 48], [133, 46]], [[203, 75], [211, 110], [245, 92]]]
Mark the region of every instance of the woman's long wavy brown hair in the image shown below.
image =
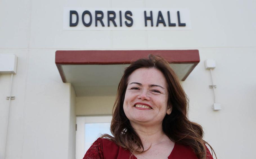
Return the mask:
[[[169, 63], [160, 56], [149, 55], [148, 59], [139, 59], [125, 69], [118, 85], [116, 100], [113, 107], [113, 118], [110, 130], [114, 137], [108, 134], [104, 134], [102, 137], [114, 141], [124, 149], [129, 149], [133, 154], [142, 153], [144, 151], [139, 135], [134, 131], [129, 119], [125, 116], [123, 111], [123, 102], [128, 78], [133, 71], [139, 68], [156, 68], [160, 70], [166, 78], [168, 87], [167, 105], [172, 106], [172, 112], [170, 115], [166, 114], [163, 119], [163, 132], [172, 141], [179, 144], [189, 145], [198, 158], [205, 159], [205, 144], [208, 143], [203, 140], [203, 128], [201, 125], [188, 120], [187, 95]], [[212, 149], [211, 146], [210, 148]]]

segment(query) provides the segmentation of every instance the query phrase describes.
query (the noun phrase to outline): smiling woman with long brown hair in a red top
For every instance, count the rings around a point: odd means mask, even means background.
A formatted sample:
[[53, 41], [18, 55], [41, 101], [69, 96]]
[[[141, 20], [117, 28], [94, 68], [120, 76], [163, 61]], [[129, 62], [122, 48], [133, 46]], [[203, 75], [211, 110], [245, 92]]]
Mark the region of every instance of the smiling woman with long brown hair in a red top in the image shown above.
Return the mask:
[[102, 135], [83, 159], [212, 159], [202, 127], [188, 120], [187, 110], [187, 96], [169, 63], [154, 55], [139, 59], [118, 85], [114, 137]]

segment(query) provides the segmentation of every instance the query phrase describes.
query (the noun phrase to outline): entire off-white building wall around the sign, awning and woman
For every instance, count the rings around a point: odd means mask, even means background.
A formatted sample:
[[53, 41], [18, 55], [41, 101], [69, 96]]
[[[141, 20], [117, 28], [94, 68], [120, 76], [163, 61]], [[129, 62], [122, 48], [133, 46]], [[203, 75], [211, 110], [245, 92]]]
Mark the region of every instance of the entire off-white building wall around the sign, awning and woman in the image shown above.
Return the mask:
[[[63, 7], [188, 8], [190, 31], [64, 31]], [[18, 56], [14, 75], [6, 159], [73, 158], [74, 93], [62, 83], [56, 50], [198, 49], [201, 62], [182, 82], [190, 98], [190, 119], [205, 128], [219, 158], [253, 158], [255, 132], [256, 1], [8, 1], [0, 5], [0, 53]], [[215, 59], [214, 112], [205, 59]], [[0, 157], [5, 151], [10, 75], [0, 76]], [[112, 112], [114, 97], [102, 114]], [[76, 114], [97, 97], [76, 98]], [[83, 102], [90, 103], [84, 105]], [[104, 105], [99, 104], [101, 107]], [[109, 109], [108, 109], [109, 108]], [[95, 115], [95, 108], [86, 109]], [[3, 142], [2, 142], [3, 141]], [[234, 153], [235, 152], [235, 153]], [[242, 157], [243, 155], [243, 157]]]

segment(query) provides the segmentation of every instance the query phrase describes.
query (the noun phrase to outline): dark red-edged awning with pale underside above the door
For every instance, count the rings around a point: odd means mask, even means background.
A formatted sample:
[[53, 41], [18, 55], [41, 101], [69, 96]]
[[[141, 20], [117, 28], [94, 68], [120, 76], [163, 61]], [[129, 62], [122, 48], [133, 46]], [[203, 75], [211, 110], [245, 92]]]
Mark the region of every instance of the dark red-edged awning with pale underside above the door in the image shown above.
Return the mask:
[[58, 50], [55, 63], [78, 97], [115, 95], [125, 67], [149, 54], [165, 58], [181, 81], [200, 61], [198, 50]]

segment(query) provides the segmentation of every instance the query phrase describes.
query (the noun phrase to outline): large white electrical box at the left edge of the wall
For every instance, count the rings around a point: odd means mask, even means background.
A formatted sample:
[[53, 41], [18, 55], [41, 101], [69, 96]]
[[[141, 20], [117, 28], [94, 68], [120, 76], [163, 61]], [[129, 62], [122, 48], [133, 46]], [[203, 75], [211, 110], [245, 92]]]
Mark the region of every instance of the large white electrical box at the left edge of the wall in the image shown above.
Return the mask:
[[0, 53], [0, 74], [16, 74], [17, 59], [15, 54]]

